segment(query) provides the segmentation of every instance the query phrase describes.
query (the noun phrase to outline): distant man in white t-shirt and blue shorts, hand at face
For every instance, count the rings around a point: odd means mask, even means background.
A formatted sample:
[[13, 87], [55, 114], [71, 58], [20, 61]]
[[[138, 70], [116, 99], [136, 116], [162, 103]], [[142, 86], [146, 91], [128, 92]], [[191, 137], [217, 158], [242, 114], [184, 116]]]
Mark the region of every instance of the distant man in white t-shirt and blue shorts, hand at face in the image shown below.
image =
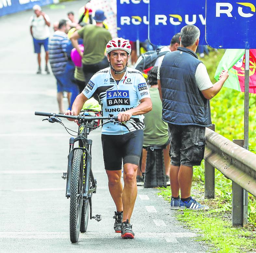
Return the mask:
[[39, 5], [33, 7], [34, 15], [30, 18], [30, 32], [34, 42], [34, 52], [37, 54], [38, 70], [37, 74], [41, 74], [41, 46], [45, 49], [45, 71], [49, 74], [48, 70], [48, 39], [50, 36], [49, 26], [50, 19], [47, 14], [42, 12]]

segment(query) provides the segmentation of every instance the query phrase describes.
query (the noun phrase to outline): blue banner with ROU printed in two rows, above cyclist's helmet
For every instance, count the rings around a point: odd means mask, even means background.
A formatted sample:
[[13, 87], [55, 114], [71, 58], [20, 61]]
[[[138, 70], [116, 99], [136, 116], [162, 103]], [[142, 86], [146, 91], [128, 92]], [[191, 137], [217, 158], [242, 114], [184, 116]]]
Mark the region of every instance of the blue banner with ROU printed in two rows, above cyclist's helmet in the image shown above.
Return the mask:
[[149, 0], [117, 0], [117, 34], [131, 41], [148, 38]]

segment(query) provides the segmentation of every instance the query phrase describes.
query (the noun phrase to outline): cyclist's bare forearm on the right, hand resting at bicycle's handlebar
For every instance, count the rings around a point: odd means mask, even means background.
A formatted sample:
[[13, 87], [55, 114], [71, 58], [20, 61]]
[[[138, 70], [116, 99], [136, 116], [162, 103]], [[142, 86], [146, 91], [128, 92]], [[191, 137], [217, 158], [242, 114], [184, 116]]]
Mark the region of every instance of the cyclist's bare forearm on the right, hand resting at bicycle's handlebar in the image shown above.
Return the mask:
[[125, 112], [120, 112], [118, 114], [118, 121], [119, 122], [128, 121], [132, 116], [145, 114], [151, 110], [152, 110], [151, 98], [149, 97], [142, 98], [140, 100], [140, 104], [137, 107], [129, 109]]

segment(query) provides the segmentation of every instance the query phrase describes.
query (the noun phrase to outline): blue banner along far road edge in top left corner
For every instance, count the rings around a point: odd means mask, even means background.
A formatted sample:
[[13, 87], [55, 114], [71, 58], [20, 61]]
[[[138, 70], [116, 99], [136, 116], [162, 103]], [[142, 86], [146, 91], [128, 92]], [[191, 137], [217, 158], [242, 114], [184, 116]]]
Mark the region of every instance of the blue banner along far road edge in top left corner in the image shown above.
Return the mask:
[[0, 0], [0, 16], [32, 9], [34, 5], [52, 4], [53, 0]]

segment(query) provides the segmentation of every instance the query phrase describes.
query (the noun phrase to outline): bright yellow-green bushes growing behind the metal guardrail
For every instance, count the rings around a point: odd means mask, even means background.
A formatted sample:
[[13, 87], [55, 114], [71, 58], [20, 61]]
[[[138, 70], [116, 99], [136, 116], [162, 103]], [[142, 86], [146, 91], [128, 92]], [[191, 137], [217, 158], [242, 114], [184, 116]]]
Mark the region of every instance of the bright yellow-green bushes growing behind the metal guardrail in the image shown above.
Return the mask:
[[[210, 52], [209, 56], [203, 59], [209, 76], [213, 83], [215, 70], [224, 54], [224, 50], [218, 53]], [[219, 94], [211, 99], [212, 122], [215, 123], [215, 131], [229, 140], [243, 139], [244, 136], [244, 93], [223, 87]], [[249, 150], [255, 153], [256, 150], [256, 94], [249, 94]], [[194, 177], [204, 183], [204, 167], [201, 165], [195, 168]], [[222, 173], [216, 170], [216, 193], [231, 203], [232, 182], [223, 177]], [[256, 224], [256, 199], [249, 195], [248, 220]]]

